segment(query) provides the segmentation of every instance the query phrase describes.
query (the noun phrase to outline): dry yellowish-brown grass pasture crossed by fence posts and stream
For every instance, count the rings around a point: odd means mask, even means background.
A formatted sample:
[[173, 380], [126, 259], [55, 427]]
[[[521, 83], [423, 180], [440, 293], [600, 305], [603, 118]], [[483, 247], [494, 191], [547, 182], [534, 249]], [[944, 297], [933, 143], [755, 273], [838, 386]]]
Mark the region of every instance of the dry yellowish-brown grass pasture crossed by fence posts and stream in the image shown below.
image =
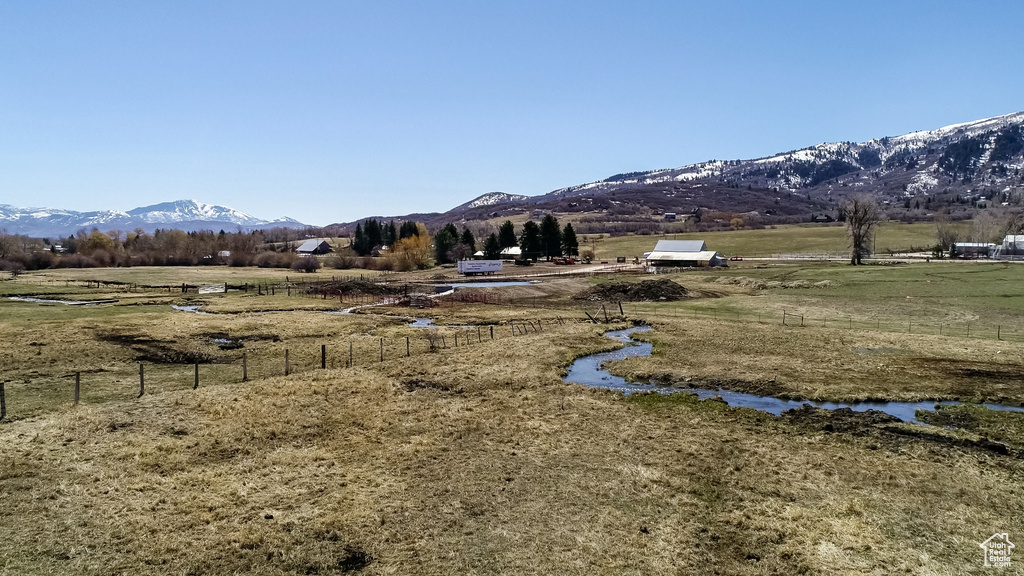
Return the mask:
[[[602, 278], [506, 289], [506, 305], [350, 315], [297, 295], [74, 282], [69, 297], [119, 301], [2, 298], [0, 574], [984, 574], [978, 544], [1024, 531], [1024, 415], [775, 417], [684, 392], [1024, 402], [1016, 341], [757, 318], [931, 310], [1021, 322], [1016, 269], [915, 266], [686, 273], [671, 278], [700, 297], [626, 303], [625, 319], [606, 302], [608, 324], [583, 314], [600, 302], [572, 299]], [[104, 272], [122, 274], [78, 273]], [[0, 293], [56, 288], [34, 277]], [[1009, 295], [963, 297], [974, 289]], [[574, 358], [614, 347], [604, 331], [634, 320], [652, 326], [654, 354], [610, 370], [680, 393], [562, 382]], [[527, 322], [543, 328], [513, 335]], [[429, 352], [428, 334], [446, 347]]]

